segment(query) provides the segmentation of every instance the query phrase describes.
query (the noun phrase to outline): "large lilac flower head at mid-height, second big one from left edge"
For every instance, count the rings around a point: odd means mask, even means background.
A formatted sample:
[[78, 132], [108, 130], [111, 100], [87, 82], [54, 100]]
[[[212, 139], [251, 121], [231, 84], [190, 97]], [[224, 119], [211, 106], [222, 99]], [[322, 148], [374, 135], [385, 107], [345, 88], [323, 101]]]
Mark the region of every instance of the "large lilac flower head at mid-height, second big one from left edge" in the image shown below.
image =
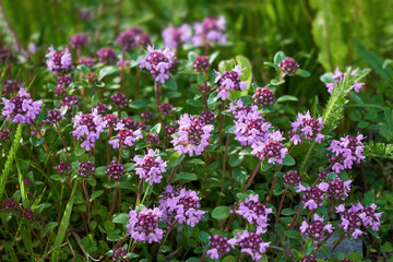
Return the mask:
[[71, 132], [76, 140], [83, 141], [82, 148], [91, 151], [99, 134], [105, 131], [106, 121], [94, 110], [92, 114], [78, 114], [73, 119], [74, 130]]

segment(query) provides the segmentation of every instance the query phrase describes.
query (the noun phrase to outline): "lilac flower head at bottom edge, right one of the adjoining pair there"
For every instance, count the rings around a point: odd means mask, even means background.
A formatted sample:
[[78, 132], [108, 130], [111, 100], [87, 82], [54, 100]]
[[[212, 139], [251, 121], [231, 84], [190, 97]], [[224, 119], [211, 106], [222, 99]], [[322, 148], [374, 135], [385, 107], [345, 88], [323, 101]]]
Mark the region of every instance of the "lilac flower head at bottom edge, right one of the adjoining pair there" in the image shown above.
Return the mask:
[[251, 255], [253, 261], [262, 259], [263, 253], [265, 253], [266, 249], [270, 247], [270, 242], [263, 241], [261, 233], [249, 233], [248, 230], [238, 233], [236, 237], [228, 240], [228, 243], [233, 248], [239, 246], [240, 251]]

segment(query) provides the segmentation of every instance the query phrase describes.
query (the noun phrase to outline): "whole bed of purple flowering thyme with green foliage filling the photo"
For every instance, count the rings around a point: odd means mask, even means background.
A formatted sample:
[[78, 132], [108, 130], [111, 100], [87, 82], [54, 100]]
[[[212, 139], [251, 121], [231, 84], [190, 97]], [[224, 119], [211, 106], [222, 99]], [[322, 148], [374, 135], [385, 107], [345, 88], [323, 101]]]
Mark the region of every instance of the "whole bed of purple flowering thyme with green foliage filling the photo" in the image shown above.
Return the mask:
[[224, 3], [158, 29], [121, 1], [63, 4], [68, 38], [25, 41], [1, 3], [3, 261], [392, 260], [391, 60], [326, 51], [315, 21], [336, 5], [294, 5], [319, 53], [254, 58]]

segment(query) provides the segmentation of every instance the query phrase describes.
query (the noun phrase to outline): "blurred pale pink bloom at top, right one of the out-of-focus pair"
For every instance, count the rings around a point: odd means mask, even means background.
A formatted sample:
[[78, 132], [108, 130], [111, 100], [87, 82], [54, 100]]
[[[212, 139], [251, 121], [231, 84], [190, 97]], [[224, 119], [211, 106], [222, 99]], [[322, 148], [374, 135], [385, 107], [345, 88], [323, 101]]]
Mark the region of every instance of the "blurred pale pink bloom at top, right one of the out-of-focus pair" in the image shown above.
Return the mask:
[[205, 41], [225, 45], [227, 35], [225, 32], [225, 17], [205, 17], [202, 23], [193, 24], [194, 36], [192, 43], [194, 46], [203, 46]]

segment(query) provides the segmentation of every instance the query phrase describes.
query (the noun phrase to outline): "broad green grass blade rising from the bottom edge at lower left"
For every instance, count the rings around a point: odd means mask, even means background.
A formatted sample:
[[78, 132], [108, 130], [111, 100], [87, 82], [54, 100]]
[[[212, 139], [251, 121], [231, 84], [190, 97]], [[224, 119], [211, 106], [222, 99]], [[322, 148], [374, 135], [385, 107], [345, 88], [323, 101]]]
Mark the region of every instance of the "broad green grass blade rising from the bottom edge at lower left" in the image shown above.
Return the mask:
[[[67, 228], [69, 226], [69, 223], [70, 223], [70, 217], [71, 217], [72, 206], [73, 206], [73, 202], [74, 202], [75, 191], [76, 191], [76, 182], [72, 187], [72, 192], [71, 192], [71, 195], [70, 195], [70, 200], [67, 203], [64, 214], [63, 214], [63, 216], [61, 218], [61, 223], [60, 223], [60, 226], [59, 226], [59, 231], [56, 235], [53, 247], [59, 247], [62, 243], [63, 239], [64, 239], [66, 230], [67, 230]], [[59, 248], [56, 248], [53, 250], [53, 252], [51, 253], [51, 255], [50, 255], [50, 261], [52, 261], [52, 262], [59, 261], [59, 252], [60, 252]]]

